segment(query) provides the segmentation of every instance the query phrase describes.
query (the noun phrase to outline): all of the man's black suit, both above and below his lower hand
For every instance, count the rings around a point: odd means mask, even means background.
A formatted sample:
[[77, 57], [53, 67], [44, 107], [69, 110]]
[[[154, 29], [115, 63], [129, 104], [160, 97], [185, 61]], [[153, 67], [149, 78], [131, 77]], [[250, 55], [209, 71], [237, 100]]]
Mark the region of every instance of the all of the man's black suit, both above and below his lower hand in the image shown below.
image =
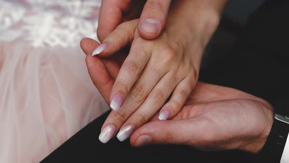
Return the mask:
[[[201, 70], [200, 80], [240, 89], [267, 100], [279, 113], [288, 112], [288, 16], [288, 0], [268, 1], [251, 16], [230, 53], [213, 57], [214, 63]], [[271, 157], [269, 153], [202, 152], [178, 145], [133, 148], [128, 140], [116, 138], [102, 144], [98, 135], [107, 115], [72, 136], [43, 163], [258, 163], [260, 157]], [[272, 162], [265, 159], [262, 163]]]

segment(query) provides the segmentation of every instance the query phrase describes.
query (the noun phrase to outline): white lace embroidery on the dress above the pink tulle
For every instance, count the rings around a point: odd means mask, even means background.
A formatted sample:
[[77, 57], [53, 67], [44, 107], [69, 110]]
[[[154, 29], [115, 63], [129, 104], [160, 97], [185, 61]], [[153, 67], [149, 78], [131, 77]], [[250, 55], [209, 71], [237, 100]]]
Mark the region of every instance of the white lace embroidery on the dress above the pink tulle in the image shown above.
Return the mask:
[[96, 39], [99, 6], [100, 0], [2, 0], [0, 40], [78, 46], [83, 37]]

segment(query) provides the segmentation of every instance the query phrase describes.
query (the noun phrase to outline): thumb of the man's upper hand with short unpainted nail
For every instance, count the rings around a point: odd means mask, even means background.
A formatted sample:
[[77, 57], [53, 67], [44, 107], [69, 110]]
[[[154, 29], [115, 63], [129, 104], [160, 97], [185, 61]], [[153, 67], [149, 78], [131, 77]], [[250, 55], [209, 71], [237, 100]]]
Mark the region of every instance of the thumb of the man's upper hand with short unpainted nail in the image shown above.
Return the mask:
[[163, 31], [171, 0], [147, 0], [140, 18], [138, 31], [148, 40], [157, 38]]

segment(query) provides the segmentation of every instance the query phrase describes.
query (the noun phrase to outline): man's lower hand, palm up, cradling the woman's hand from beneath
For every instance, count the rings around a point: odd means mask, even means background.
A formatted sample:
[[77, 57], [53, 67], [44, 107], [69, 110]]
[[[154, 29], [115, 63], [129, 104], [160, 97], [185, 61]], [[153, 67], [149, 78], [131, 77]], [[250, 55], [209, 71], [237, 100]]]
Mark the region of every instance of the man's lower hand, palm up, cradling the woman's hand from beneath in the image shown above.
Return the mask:
[[[106, 101], [119, 68], [92, 57], [99, 44], [81, 41], [89, 74]], [[134, 146], [146, 143], [186, 144], [201, 149], [241, 149], [259, 152], [273, 123], [273, 108], [265, 100], [240, 90], [198, 82], [184, 107], [171, 120], [160, 121], [156, 113], [130, 138]], [[142, 137], [146, 137], [143, 139]]]

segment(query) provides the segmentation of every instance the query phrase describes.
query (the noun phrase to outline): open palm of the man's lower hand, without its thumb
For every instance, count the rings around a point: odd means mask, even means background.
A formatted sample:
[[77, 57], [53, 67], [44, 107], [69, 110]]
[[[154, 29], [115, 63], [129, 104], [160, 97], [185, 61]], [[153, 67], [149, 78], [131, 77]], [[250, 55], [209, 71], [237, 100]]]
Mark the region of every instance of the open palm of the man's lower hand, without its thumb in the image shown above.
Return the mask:
[[271, 115], [267, 112], [272, 112], [272, 107], [260, 98], [236, 89], [198, 82], [186, 105], [172, 121], [187, 120], [194, 124], [194, 136], [198, 141], [186, 144], [230, 149], [239, 147], [242, 140], [247, 141], [242, 137], [246, 133], [250, 133], [246, 135], [249, 139], [266, 132], [267, 116]]

